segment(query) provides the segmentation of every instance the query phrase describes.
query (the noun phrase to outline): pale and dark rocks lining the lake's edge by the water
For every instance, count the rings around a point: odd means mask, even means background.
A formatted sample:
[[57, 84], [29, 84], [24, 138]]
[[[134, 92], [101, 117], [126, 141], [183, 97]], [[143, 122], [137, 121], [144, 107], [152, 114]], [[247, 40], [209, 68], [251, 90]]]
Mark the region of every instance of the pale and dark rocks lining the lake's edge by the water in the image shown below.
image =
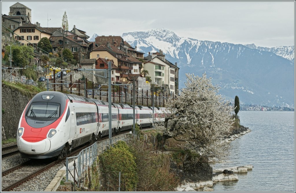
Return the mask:
[[[231, 141], [251, 131], [252, 130], [250, 130], [249, 127], [244, 127], [241, 125], [239, 128], [232, 130], [231, 133], [229, 133], [229, 135], [225, 137], [225, 143], [231, 143]], [[209, 166], [209, 164], [201, 163], [201, 165], [198, 168], [199, 169], [196, 169], [194, 167], [194, 169], [191, 172], [186, 172], [185, 166], [184, 166], [184, 171], [181, 171], [181, 173], [183, 173], [184, 175], [184, 178], [182, 179], [183, 183], [180, 184], [175, 189], [175, 191], [177, 192], [214, 191], [212, 187], [213, 187], [213, 184], [215, 184], [215, 182], [237, 181], [238, 176], [236, 173], [247, 173], [248, 170], [252, 170], [253, 166], [245, 165], [245, 166], [236, 166], [236, 167], [221, 168], [221, 169], [213, 170], [213, 168]], [[209, 176], [208, 174], [212, 174], [212, 175]], [[199, 176], [199, 178], [196, 178], [195, 176]]]

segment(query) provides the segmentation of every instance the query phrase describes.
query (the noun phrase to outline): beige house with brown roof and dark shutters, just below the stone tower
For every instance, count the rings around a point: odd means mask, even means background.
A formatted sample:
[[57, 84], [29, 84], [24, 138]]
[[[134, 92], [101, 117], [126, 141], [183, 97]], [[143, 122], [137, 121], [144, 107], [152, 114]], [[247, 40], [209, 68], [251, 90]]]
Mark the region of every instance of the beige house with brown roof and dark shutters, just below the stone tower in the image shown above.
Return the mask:
[[16, 40], [22, 42], [22, 45], [35, 45], [37, 46], [38, 42], [42, 37], [49, 37], [52, 35], [51, 32], [40, 27], [40, 23], [36, 22], [36, 24], [27, 23], [14, 31], [14, 37]]

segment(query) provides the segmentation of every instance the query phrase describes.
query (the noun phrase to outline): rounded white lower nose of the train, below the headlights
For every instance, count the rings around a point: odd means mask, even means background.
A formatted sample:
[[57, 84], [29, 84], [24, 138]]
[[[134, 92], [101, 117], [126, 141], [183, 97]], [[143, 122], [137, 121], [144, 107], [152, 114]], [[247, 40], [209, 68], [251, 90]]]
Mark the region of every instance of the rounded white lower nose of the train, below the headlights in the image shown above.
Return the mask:
[[46, 153], [50, 149], [50, 141], [48, 139], [37, 141], [20, 138], [17, 142], [17, 145], [22, 153], [29, 155]]

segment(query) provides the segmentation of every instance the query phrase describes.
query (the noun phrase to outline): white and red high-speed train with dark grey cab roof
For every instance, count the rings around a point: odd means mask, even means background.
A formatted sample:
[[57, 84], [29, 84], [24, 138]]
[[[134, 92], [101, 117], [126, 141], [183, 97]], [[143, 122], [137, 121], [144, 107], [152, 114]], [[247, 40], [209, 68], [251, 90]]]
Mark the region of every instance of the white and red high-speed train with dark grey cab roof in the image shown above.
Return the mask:
[[[133, 128], [133, 106], [112, 103], [112, 133]], [[155, 107], [155, 121], [166, 109]], [[152, 125], [152, 107], [135, 106], [135, 123]], [[109, 134], [109, 104], [75, 94], [43, 91], [25, 107], [17, 130], [17, 146], [24, 158], [65, 157], [84, 143]]]

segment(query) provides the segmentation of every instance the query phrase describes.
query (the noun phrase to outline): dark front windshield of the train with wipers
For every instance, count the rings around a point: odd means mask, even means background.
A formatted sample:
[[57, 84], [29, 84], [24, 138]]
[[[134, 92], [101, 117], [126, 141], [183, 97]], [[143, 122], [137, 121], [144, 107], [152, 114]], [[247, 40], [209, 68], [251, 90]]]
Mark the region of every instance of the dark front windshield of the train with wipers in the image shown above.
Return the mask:
[[33, 118], [57, 118], [59, 117], [60, 105], [54, 102], [33, 102], [27, 113]]

